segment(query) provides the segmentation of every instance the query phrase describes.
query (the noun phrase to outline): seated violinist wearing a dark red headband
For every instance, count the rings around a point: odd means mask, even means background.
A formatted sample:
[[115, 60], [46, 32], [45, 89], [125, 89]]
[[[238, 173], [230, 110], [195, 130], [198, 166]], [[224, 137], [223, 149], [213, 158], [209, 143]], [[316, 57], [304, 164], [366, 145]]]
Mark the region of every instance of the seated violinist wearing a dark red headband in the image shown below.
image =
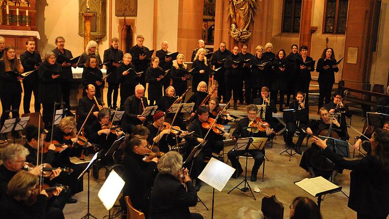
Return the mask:
[[[162, 111], [155, 112], [152, 117], [153, 123], [148, 125], [150, 134], [147, 137], [147, 141], [154, 147], [158, 147], [159, 151], [167, 153], [169, 151], [169, 145], [175, 145], [181, 142], [181, 139], [188, 133], [182, 131], [182, 133], [172, 136], [170, 126], [165, 127], [165, 113]], [[152, 150], [152, 149], [151, 149]]]

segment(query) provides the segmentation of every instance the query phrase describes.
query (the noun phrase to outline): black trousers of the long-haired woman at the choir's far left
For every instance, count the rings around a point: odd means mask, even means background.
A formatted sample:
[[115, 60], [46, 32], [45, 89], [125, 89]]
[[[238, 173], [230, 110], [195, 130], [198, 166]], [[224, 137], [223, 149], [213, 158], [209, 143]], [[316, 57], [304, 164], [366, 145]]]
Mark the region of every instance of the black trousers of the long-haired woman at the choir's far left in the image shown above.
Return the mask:
[[[4, 85], [3, 85], [4, 86]], [[0, 128], [3, 127], [4, 122], [8, 118], [9, 114], [4, 113], [5, 111], [10, 111], [11, 109], [16, 109], [18, 112], [12, 113], [12, 118], [18, 118], [19, 117], [19, 107], [20, 107], [20, 101], [22, 99], [22, 93], [17, 94], [0, 94], [0, 101], [2, 103], [3, 107], [3, 113], [0, 118]]]

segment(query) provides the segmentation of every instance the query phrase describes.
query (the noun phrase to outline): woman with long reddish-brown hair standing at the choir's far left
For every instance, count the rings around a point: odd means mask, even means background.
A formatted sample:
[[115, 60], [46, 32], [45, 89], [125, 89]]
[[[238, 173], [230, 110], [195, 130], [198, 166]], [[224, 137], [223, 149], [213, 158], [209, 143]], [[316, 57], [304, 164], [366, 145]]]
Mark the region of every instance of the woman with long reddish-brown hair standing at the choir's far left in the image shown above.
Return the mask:
[[[12, 118], [19, 117], [20, 102], [22, 99], [22, 85], [18, 74], [22, 73], [21, 65], [16, 57], [16, 51], [13, 46], [7, 46], [4, 49], [4, 56], [0, 59], [0, 80], [2, 86], [0, 87], [0, 100], [2, 102], [2, 116], [0, 119], [0, 127], [2, 128], [4, 122], [9, 117], [9, 111], [12, 109]], [[8, 111], [8, 114], [6, 113]], [[21, 138], [19, 132], [14, 131], [12, 136]], [[7, 139], [7, 135], [2, 138]]]

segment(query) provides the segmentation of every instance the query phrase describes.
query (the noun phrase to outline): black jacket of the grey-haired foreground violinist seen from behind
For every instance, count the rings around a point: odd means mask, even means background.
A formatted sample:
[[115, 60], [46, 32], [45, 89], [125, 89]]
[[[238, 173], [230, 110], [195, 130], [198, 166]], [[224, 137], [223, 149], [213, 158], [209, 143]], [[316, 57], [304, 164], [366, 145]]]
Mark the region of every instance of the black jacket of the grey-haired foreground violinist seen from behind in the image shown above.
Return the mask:
[[186, 187], [187, 191], [173, 175], [159, 173], [151, 190], [152, 218], [190, 218], [189, 207], [197, 204], [197, 192], [191, 181], [186, 182]]

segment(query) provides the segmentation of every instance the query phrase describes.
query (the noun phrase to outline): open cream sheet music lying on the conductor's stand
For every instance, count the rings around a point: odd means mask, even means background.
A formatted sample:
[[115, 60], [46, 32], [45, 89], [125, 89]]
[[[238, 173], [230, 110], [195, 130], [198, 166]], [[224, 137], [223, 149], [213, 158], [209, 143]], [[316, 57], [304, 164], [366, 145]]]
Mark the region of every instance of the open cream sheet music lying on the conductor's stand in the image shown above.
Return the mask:
[[295, 182], [295, 184], [314, 197], [316, 197], [316, 195], [319, 193], [339, 188], [322, 176], [315, 178], [304, 178], [301, 181]]

